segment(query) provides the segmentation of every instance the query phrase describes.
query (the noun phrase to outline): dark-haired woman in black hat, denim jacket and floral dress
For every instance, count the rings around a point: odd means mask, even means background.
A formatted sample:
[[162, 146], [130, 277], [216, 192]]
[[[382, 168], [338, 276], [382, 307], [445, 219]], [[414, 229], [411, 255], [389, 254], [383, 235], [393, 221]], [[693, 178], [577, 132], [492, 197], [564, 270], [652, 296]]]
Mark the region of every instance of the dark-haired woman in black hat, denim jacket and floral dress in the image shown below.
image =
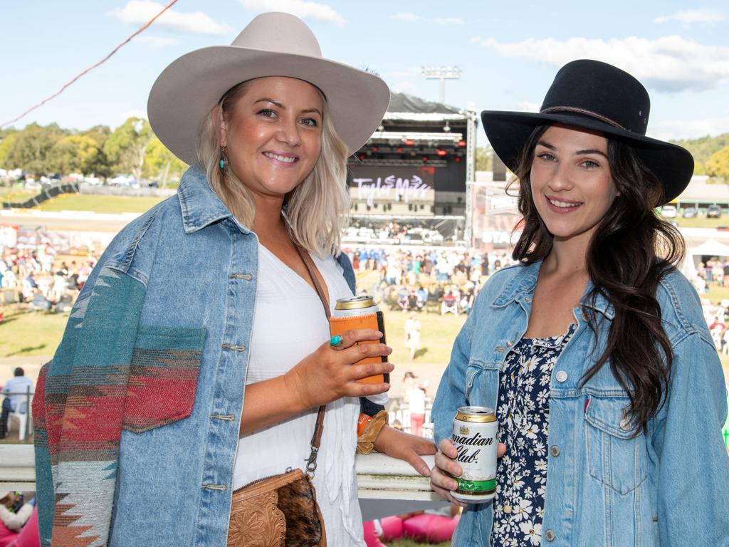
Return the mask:
[[725, 381], [682, 238], [654, 213], [693, 159], [645, 136], [649, 108], [630, 74], [573, 61], [541, 112], [483, 112], [523, 222], [432, 411], [432, 486], [454, 502], [453, 417], [499, 420], [496, 497], [461, 503], [456, 547], [729, 545]]

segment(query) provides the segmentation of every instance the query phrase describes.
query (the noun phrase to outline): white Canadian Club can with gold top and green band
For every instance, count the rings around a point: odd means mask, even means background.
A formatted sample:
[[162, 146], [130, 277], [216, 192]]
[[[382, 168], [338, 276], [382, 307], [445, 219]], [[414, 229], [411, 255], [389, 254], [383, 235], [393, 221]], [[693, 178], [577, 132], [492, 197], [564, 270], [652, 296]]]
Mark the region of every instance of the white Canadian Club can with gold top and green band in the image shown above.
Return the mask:
[[485, 503], [496, 495], [496, 432], [499, 422], [491, 408], [461, 406], [453, 419], [453, 436], [463, 473], [451, 492], [456, 500]]

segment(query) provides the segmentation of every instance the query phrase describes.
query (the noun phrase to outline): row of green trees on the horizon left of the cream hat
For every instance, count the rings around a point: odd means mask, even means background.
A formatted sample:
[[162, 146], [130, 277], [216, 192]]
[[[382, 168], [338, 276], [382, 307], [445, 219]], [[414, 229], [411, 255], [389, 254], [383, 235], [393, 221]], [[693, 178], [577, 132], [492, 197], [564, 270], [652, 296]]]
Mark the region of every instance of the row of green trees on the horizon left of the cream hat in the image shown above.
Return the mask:
[[157, 139], [147, 120], [130, 117], [113, 131], [106, 125], [74, 131], [56, 123], [0, 131], [0, 168], [36, 176], [130, 174], [163, 186], [179, 179], [187, 165]]

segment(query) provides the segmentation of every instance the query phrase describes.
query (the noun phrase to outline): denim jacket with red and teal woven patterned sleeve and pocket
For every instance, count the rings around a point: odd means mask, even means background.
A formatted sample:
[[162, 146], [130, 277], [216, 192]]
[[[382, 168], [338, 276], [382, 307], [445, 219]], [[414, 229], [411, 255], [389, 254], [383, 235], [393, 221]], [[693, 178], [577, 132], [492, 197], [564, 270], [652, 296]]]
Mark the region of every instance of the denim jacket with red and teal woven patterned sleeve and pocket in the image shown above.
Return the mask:
[[39, 379], [43, 546], [225, 545], [257, 252], [198, 168], [114, 238]]

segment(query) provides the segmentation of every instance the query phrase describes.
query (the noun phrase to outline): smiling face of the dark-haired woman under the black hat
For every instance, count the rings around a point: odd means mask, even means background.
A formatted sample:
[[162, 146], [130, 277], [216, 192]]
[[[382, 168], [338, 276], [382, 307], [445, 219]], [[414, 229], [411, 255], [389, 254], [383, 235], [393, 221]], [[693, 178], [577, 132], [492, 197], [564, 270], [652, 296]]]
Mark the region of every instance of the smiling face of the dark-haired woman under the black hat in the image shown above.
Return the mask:
[[534, 148], [531, 198], [555, 243], [590, 241], [619, 195], [607, 158], [607, 140], [566, 125], [547, 128]]

